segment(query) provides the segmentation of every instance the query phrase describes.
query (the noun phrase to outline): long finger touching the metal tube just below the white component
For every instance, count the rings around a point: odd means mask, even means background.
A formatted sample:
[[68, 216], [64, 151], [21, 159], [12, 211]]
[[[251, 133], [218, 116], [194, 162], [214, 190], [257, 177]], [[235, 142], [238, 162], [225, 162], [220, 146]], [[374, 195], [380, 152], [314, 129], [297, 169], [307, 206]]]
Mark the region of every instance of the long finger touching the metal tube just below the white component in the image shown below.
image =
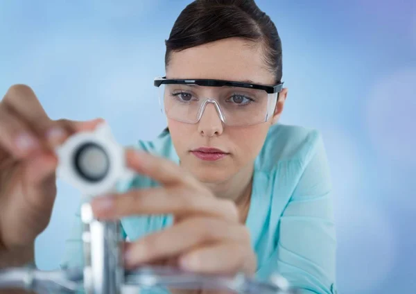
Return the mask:
[[207, 197], [202, 193], [182, 186], [133, 189], [119, 196], [96, 197], [92, 200], [92, 209], [94, 215], [102, 219], [134, 214], [173, 214], [175, 218], [195, 214], [238, 223], [239, 215], [234, 202]]

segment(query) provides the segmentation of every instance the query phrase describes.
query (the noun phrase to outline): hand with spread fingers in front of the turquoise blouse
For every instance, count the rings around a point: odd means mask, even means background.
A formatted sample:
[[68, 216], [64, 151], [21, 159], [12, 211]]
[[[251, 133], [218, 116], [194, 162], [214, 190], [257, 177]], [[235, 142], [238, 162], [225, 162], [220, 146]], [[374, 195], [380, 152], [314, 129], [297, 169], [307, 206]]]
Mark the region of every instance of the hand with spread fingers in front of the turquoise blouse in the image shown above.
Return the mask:
[[232, 200], [216, 198], [207, 187], [174, 162], [137, 150], [126, 150], [128, 166], [161, 187], [133, 189], [94, 198], [94, 215], [119, 219], [137, 214], [172, 214], [171, 227], [125, 246], [125, 267], [174, 263], [197, 273], [252, 275], [257, 267], [250, 234], [239, 223]]

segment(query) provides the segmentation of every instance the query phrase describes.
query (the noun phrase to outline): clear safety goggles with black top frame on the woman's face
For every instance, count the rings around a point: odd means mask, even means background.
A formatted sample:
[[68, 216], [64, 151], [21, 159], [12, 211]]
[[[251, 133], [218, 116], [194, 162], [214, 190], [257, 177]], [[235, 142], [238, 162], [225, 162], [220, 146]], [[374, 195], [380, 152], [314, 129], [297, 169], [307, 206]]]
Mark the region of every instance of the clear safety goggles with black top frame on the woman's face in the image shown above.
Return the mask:
[[198, 123], [207, 105], [214, 105], [227, 126], [248, 126], [268, 121], [275, 112], [283, 83], [259, 85], [211, 79], [155, 78], [159, 103], [169, 119]]

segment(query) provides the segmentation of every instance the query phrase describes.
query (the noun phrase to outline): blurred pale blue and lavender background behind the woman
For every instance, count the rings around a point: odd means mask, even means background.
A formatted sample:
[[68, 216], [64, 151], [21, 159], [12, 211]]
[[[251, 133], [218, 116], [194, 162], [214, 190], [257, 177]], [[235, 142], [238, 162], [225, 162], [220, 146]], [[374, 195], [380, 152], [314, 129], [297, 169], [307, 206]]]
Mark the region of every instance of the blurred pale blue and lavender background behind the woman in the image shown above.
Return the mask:
[[[190, 1], [0, 1], [0, 95], [33, 87], [54, 119], [109, 121], [122, 144], [165, 126], [153, 78]], [[282, 123], [318, 128], [336, 189], [340, 293], [416, 291], [416, 3], [258, 0], [278, 28]], [[58, 267], [78, 192], [58, 183], [37, 265]]]

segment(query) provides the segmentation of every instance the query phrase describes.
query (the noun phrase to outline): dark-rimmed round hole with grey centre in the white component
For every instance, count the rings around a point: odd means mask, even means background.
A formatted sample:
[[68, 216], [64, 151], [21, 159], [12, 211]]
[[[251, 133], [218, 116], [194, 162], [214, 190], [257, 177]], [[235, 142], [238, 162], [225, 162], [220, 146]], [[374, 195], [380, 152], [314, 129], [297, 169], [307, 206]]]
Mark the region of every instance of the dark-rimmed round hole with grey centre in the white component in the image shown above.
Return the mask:
[[110, 171], [110, 158], [107, 152], [94, 142], [80, 145], [73, 159], [78, 174], [89, 182], [100, 182]]

